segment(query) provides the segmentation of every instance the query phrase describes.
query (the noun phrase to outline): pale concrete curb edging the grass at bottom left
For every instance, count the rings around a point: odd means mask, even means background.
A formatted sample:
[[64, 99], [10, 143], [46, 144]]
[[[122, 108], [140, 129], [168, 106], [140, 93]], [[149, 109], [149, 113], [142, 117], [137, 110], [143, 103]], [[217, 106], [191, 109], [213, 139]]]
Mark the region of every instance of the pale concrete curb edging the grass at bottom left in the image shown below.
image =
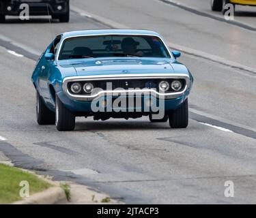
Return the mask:
[[13, 204], [57, 204], [58, 202], [66, 201], [66, 194], [63, 189], [60, 187], [51, 187]]

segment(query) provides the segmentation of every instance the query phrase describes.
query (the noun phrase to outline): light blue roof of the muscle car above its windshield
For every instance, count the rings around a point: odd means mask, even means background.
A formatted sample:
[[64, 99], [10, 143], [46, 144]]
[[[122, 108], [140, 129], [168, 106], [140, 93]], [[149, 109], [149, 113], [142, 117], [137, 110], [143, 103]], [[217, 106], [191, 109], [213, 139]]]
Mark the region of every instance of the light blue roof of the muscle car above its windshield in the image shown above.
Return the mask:
[[62, 33], [64, 38], [66, 37], [76, 37], [76, 36], [83, 36], [83, 35], [105, 35], [105, 34], [117, 34], [117, 35], [156, 35], [160, 37], [160, 34], [150, 31], [150, 30], [143, 30], [143, 29], [93, 29], [93, 30], [81, 30], [81, 31], [69, 31], [66, 33]]

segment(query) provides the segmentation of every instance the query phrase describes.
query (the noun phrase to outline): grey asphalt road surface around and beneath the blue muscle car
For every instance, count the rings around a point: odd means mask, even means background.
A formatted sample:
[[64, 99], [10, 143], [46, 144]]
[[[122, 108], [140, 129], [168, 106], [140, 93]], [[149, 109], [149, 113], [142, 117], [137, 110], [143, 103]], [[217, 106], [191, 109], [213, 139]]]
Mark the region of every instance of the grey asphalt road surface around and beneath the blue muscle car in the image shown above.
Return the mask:
[[[199, 0], [180, 2], [203, 8]], [[237, 21], [252, 25], [253, 18], [246, 18]], [[195, 76], [187, 129], [146, 117], [79, 118], [71, 132], [37, 125], [30, 77], [38, 55], [63, 31], [115, 24], [153, 29], [172, 44], [256, 65], [255, 31], [158, 0], [74, 0], [68, 24], [10, 18], [0, 26], [0, 136], [6, 139], [0, 137], [0, 151], [17, 166], [90, 185], [128, 203], [256, 203], [253, 72], [183, 54], [180, 61]], [[234, 198], [225, 198], [225, 181], [233, 181]]]

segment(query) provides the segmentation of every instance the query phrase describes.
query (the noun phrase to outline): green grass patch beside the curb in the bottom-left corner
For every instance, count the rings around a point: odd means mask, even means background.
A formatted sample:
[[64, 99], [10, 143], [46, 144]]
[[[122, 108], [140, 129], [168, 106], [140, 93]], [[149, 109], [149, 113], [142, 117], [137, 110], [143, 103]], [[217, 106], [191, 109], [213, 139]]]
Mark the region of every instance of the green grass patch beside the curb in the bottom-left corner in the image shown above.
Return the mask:
[[23, 200], [20, 197], [20, 189], [23, 188], [20, 186], [21, 181], [29, 183], [30, 195], [53, 186], [35, 174], [0, 163], [0, 204], [11, 204]]

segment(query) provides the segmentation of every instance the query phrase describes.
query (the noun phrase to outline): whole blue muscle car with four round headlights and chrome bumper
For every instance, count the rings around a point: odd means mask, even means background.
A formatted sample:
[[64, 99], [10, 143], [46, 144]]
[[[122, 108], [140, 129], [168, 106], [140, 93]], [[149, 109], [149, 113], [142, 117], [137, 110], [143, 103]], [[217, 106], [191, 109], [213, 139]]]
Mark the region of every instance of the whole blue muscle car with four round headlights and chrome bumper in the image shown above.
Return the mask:
[[71, 31], [57, 35], [32, 75], [39, 125], [59, 131], [76, 116], [94, 120], [139, 118], [188, 125], [189, 70], [161, 35], [134, 29]]

